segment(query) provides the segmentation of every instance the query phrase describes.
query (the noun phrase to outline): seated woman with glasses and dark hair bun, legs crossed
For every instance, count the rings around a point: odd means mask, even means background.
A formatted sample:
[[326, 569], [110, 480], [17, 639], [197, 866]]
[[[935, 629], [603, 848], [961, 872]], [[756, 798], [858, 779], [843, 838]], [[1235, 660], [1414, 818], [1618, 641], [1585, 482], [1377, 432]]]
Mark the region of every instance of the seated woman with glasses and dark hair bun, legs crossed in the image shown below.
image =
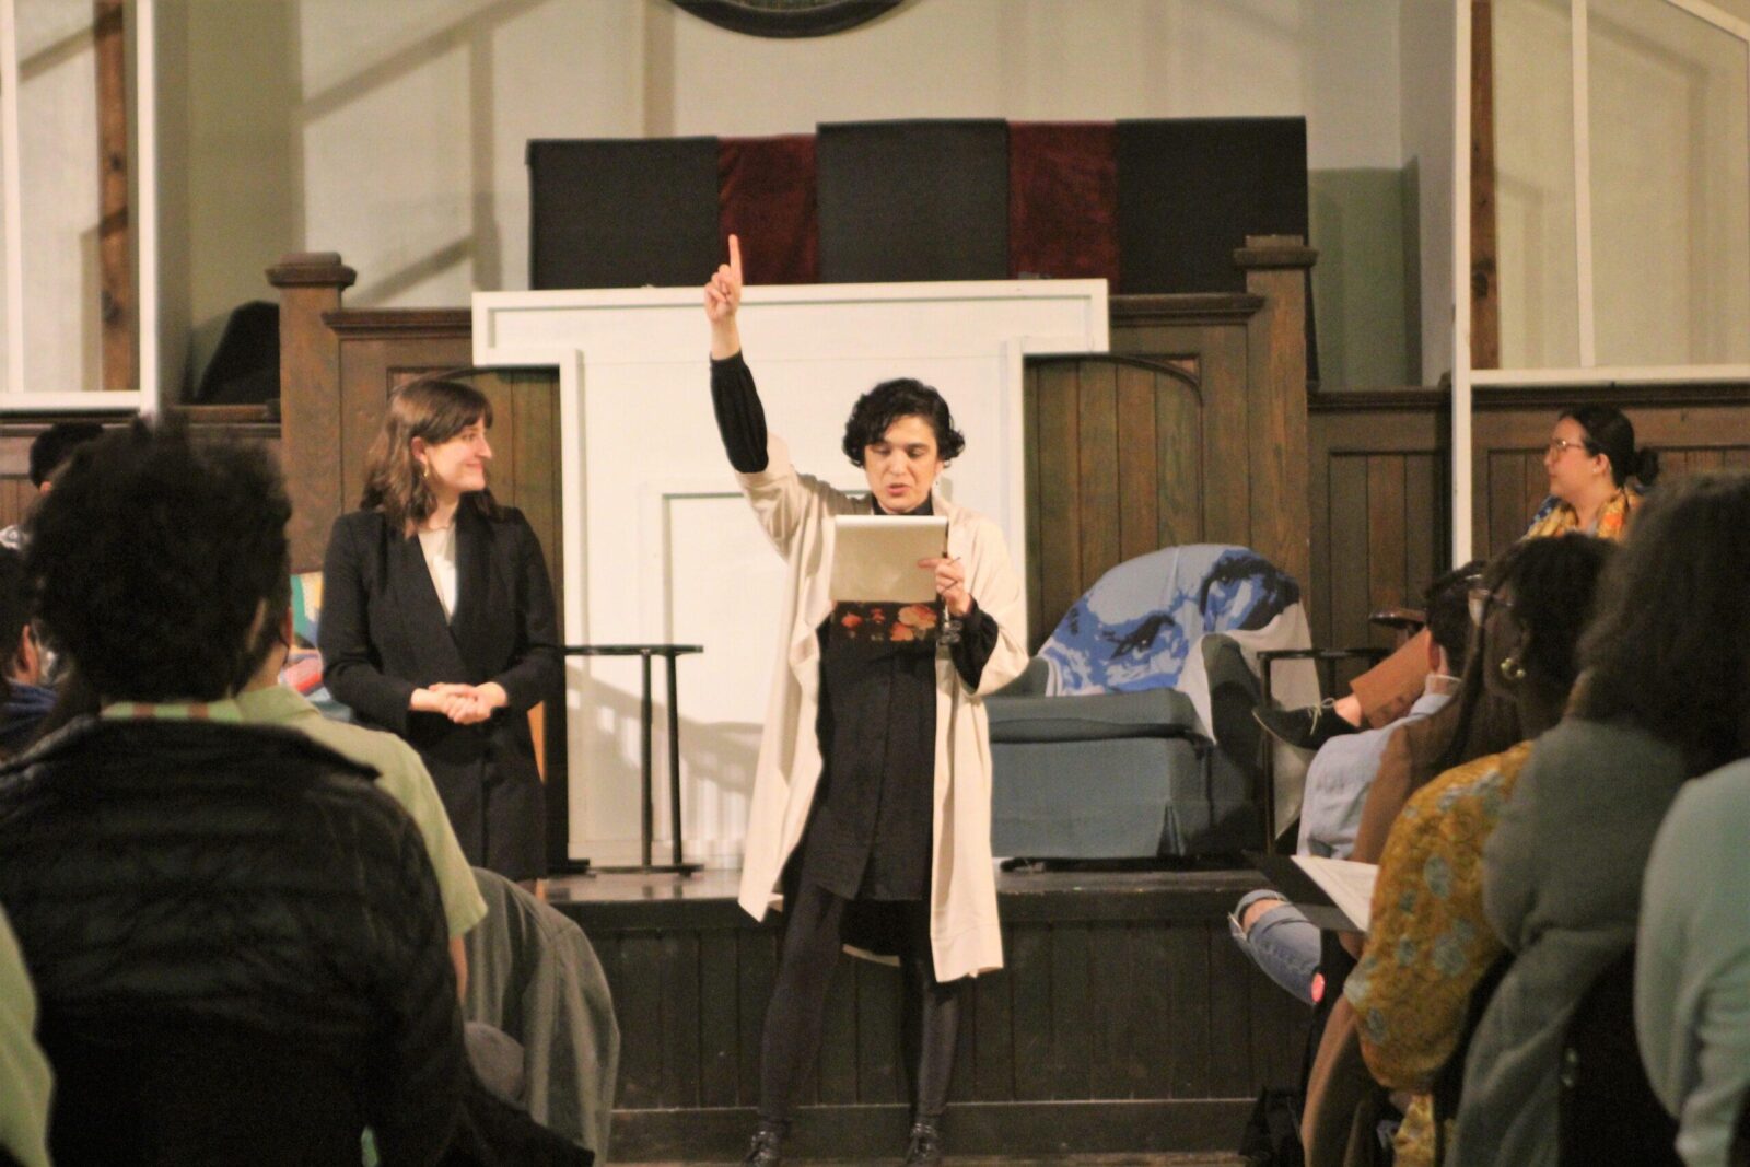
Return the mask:
[[[1549, 497], [1524, 539], [1598, 535], [1620, 539], [1642, 492], [1659, 476], [1659, 453], [1634, 446], [1634, 423], [1610, 406], [1575, 406], [1556, 418], [1544, 448]], [[1297, 749], [1318, 749], [1334, 737], [1390, 724], [1421, 696], [1428, 677], [1428, 633], [1412, 637], [1384, 661], [1356, 677], [1349, 695], [1309, 709], [1256, 709], [1258, 724]]]

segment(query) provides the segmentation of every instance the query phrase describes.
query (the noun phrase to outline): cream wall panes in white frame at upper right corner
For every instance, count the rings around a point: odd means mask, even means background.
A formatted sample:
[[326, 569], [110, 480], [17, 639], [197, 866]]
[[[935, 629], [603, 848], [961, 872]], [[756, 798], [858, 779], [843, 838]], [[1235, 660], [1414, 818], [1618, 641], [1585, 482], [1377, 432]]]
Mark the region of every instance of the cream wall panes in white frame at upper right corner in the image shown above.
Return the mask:
[[[1575, 366], [1568, 3], [1496, 0], [1494, 19], [1502, 364]], [[1662, 0], [1591, 0], [1587, 49], [1596, 362], [1750, 360], [1743, 40]]]

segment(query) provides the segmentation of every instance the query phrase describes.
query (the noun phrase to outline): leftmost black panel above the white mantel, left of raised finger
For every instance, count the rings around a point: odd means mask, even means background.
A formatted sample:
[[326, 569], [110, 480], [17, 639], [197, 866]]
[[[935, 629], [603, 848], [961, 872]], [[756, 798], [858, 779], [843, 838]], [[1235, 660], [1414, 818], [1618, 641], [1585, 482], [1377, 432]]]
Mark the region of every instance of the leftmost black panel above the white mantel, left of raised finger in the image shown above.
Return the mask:
[[686, 287], [719, 259], [718, 140], [532, 140], [528, 287]]

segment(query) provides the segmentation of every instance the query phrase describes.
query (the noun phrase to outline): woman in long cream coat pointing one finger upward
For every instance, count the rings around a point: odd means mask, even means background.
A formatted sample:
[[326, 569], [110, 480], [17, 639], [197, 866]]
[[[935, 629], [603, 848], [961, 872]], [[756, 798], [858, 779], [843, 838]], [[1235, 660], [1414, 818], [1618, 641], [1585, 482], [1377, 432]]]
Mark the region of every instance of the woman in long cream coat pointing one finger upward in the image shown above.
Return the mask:
[[[933, 492], [964, 439], [915, 380], [863, 394], [844, 450], [870, 497], [798, 472], [770, 436], [742, 360], [740, 241], [705, 283], [710, 394], [730, 464], [788, 567], [772, 703], [754, 773], [740, 903], [784, 891], [784, 948], [760, 1046], [749, 1164], [780, 1162], [791, 1104], [821, 1039], [840, 947], [894, 954], [912, 1078], [908, 1164], [942, 1160], [942, 1113], [966, 978], [1003, 964], [990, 861], [982, 698], [1027, 663], [1022, 593], [996, 523]], [[938, 514], [948, 553], [922, 560], [938, 605], [835, 604], [838, 514]], [[957, 635], [938, 635], [942, 614]]]

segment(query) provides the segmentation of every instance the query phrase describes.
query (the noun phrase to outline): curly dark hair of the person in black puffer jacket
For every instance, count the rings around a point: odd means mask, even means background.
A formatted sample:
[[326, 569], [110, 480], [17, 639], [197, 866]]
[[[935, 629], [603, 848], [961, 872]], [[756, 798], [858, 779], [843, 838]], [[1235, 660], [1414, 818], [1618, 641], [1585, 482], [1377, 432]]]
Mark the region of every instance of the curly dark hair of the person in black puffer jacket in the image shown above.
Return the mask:
[[80, 446], [32, 520], [37, 612], [103, 700], [212, 702], [250, 679], [292, 506], [257, 446], [135, 422]]

